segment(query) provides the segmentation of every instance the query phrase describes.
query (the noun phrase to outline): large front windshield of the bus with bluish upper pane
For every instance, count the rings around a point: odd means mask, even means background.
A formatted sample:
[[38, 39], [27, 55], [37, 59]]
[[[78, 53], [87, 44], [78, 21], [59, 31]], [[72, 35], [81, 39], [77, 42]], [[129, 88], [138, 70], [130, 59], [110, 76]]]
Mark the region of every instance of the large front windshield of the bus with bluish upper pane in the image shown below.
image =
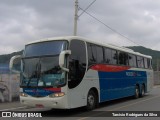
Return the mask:
[[22, 58], [21, 87], [58, 87], [66, 83], [65, 72], [59, 67], [59, 54], [66, 41], [41, 42], [27, 45]]

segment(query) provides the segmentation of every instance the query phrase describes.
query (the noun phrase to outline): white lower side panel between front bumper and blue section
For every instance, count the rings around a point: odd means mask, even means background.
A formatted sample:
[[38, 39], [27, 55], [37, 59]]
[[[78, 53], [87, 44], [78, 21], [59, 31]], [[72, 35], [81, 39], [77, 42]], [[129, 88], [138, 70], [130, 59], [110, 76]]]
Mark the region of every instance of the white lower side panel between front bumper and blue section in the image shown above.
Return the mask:
[[91, 88], [96, 88], [99, 93], [99, 76], [98, 71], [89, 69], [81, 83], [73, 88], [68, 88], [69, 108], [77, 108], [87, 105], [87, 95]]

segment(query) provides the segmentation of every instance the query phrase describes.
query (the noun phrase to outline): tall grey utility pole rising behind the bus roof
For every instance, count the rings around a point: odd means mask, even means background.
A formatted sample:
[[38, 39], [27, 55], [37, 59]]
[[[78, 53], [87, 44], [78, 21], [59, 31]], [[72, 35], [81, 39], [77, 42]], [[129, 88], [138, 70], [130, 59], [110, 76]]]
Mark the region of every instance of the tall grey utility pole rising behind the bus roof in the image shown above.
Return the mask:
[[74, 33], [73, 35], [77, 35], [77, 20], [78, 20], [78, 0], [75, 0], [75, 15], [74, 15]]

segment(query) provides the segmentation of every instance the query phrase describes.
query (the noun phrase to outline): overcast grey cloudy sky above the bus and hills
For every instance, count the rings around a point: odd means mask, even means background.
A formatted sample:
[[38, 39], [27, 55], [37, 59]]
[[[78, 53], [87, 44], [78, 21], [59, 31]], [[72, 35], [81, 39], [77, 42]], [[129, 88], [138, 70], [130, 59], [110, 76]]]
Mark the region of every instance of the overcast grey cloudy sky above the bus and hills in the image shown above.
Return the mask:
[[[78, 0], [78, 15], [93, 1]], [[31, 41], [72, 36], [74, 7], [75, 0], [0, 0], [0, 54], [22, 50]], [[160, 51], [159, 11], [160, 0], [96, 0], [86, 11], [94, 18], [87, 13], [78, 18], [77, 35]]]

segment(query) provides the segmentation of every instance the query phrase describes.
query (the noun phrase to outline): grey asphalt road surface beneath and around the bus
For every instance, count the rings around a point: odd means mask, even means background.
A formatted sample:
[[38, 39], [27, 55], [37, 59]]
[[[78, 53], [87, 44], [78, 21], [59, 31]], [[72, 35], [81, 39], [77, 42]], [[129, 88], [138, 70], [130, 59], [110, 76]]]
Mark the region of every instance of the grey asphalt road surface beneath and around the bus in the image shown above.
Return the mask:
[[[153, 90], [146, 94], [144, 97], [139, 99], [133, 99], [132, 97], [123, 98], [119, 100], [109, 101], [100, 104], [99, 108], [93, 111], [85, 111], [84, 108], [78, 108], [73, 110], [50, 110], [50, 109], [38, 109], [38, 108], [29, 108], [19, 104], [19, 102], [13, 103], [0, 103], [0, 111], [9, 111], [9, 112], [18, 112], [18, 113], [37, 113], [39, 120], [45, 120], [47, 116], [47, 120], [53, 119], [68, 119], [68, 120], [94, 120], [94, 119], [102, 119], [102, 120], [134, 120], [135, 116], [143, 116], [137, 117], [136, 119], [140, 120], [159, 120], [160, 117], [160, 86], [155, 86]], [[150, 117], [147, 117], [150, 116]], [[41, 117], [42, 116], [42, 117]], [[113, 117], [114, 116], [114, 117]], [[120, 117], [122, 116], [122, 117]], [[134, 117], [127, 117], [134, 116]], [[144, 117], [146, 116], [146, 117]], [[35, 118], [0, 118], [0, 119], [11, 119], [11, 120], [31, 120]]]

